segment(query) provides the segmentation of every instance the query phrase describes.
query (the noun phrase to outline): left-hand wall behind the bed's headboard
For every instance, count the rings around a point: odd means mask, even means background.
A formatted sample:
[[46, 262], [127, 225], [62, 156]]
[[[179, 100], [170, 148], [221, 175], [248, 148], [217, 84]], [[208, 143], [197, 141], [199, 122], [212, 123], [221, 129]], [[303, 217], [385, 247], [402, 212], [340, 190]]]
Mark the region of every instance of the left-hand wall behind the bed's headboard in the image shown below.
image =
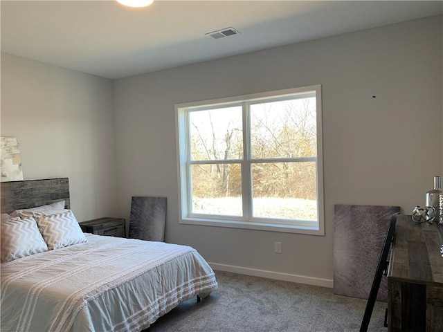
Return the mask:
[[1, 53], [1, 136], [17, 137], [25, 180], [69, 177], [79, 221], [118, 214], [112, 89], [102, 77]]

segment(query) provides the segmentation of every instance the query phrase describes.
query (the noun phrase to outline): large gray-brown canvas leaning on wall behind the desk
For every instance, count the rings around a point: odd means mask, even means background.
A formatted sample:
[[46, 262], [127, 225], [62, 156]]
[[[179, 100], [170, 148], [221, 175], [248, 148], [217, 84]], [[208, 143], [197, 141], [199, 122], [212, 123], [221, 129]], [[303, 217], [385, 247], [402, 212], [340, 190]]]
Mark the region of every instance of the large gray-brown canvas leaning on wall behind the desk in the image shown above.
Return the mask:
[[[399, 206], [334, 205], [334, 293], [368, 299], [390, 219]], [[387, 279], [377, 300], [386, 302]]]

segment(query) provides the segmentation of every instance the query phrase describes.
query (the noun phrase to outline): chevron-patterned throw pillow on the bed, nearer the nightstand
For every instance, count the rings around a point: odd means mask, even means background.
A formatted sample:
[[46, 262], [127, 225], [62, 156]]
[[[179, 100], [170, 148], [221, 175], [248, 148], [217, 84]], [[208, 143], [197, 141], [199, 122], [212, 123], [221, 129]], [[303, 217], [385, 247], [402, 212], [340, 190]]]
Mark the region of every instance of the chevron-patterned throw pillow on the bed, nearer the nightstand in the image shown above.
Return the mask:
[[36, 216], [35, 219], [49, 250], [87, 241], [71, 210], [50, 216]]

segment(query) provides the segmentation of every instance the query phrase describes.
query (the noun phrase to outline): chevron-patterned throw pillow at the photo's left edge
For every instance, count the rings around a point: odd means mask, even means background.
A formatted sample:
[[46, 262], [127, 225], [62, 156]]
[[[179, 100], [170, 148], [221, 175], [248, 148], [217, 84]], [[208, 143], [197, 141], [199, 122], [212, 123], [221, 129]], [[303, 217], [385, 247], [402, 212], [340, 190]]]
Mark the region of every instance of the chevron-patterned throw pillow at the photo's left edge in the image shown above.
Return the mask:
[[13, 261], [22, 257], [48, 250], [34, 218], [13, 217], [2, 220], [1, 262]]

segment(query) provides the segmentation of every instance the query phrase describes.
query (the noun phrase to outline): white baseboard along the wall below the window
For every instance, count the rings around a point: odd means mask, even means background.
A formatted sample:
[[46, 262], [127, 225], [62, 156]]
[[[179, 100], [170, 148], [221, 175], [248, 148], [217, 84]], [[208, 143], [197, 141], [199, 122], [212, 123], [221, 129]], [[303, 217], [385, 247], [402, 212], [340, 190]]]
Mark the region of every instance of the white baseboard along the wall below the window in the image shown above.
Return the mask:
[[284, 282], [298, 282], [300, 284], [308, 284], [328, 288], [334, 287], [334, 281], [329, 279], [304, 277], [302, 275], [291, 275], [289, 273], [257, 270], [255, 268], [243, 268], [242, 266], [232, 266], [226, 264], [209, 263], [209, 265], [211, 266], [211, 268], [213, 268], [213, 270], [239, 273], [240, 275], [253, 275], [254, 277], [282, 280]]

